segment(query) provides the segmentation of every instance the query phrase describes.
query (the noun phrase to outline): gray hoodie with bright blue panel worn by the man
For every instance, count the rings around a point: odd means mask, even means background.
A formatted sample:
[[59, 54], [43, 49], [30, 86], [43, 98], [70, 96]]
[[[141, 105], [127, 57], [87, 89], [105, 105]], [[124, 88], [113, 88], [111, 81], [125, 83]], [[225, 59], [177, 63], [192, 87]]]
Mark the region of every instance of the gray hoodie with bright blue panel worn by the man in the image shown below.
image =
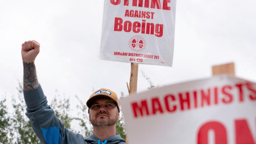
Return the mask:
[[81, 134], [68, 130], [47, 104], [41, 85], [34, 90], [23, 91], [23, 94], [27, 105], [26, 116], [43, 144], [125, 144], [119, 135], [102, 142], [94, 134], [84, 139]]

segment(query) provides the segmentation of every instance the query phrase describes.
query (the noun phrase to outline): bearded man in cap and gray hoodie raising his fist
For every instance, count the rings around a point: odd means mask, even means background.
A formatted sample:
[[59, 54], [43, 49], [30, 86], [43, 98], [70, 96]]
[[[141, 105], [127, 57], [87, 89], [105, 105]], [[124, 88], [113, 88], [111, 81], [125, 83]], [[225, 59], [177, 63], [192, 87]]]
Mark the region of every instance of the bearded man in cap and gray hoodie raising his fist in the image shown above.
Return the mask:
[[24, 69], [23, 94], [27, 105], [26, 116], [38, 138], [44, 144], [125, 144], [116, 135], [116, 122], [119, 119], [119, 101], [115, 92], [101, 88], [95, 91], [86, 102], [89, 121], [93, 125], [93, 134], [83, 138], [62, 124], [53, 109], [47, 104], [47, 98], [38, 82], [35, 58], [40, 51], [37, 41], [25, 41], [21, 55]]

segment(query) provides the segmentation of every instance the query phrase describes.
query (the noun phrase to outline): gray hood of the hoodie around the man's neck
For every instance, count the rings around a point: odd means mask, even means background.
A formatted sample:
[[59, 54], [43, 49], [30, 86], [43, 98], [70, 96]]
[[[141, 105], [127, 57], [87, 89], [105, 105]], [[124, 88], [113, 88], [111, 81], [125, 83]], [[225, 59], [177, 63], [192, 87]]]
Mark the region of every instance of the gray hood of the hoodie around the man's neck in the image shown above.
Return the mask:
[[88, 144], [125, 144], [125, 140], [122, 139], [119, 135], [113, 135], [108, 137], [106, 140], [101, 141], [94, 134], [91, 134], [89, 137], [85, 139]]

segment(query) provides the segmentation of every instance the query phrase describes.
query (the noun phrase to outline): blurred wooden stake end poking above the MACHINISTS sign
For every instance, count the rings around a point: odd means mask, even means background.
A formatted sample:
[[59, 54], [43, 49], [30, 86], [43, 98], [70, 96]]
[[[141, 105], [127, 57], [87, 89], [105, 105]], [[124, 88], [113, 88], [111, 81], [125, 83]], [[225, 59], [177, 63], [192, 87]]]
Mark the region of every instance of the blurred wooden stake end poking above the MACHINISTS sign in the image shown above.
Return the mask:
[[221, 75], [221, 74], [229, 74], [235, 76], [235, 64], [227, 63], [221, 65], [212, 66], [212, 75]]

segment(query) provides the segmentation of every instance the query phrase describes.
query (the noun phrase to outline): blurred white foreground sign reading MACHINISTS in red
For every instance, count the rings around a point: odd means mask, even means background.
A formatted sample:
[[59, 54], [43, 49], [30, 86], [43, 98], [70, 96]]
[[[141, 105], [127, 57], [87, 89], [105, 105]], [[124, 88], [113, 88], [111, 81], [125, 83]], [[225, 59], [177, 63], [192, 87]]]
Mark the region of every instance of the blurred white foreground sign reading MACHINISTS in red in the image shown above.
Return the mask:
[[132, 144], [256, 143], [256, 83], [234, 76], [156, 88], [120, 104]]

